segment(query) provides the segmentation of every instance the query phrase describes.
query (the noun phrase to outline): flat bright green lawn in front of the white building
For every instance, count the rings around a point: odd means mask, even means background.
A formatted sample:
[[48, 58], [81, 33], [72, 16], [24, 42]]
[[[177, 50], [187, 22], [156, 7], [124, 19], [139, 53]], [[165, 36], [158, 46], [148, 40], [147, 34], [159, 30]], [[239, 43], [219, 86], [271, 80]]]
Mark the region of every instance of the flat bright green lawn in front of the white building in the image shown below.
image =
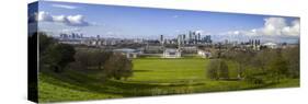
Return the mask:
[[206, 80], [205, 68], [208, 60], [201, 58], [134, 59], [134, 77], [128, 81], [167, 83], [178, 81]]

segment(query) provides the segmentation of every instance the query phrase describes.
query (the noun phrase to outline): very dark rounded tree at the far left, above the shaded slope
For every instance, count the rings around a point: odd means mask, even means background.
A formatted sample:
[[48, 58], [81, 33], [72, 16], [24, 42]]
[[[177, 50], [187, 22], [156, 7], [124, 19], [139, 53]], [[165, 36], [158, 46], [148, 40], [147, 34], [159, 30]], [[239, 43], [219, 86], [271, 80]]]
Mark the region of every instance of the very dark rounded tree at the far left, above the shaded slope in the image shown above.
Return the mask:
[[46, 49], [44, 59], [55, 72], [60, 72], [73, 61], [75, 48], [68, 44], [54, 44]]

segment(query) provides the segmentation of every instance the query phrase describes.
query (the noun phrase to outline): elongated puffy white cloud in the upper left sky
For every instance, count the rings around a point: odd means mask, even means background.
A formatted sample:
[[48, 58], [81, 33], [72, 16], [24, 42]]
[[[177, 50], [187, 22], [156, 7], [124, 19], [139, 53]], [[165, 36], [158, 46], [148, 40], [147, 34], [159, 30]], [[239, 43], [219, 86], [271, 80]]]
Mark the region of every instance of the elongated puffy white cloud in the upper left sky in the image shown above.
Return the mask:
[[55, 22], [62, 23], [69, 26], [89, 26], [90, 23], [84, 20], [81, 14], [77, 15], [52, 15], [48, 12], [39, 11], [36, 15], [38, 22]]

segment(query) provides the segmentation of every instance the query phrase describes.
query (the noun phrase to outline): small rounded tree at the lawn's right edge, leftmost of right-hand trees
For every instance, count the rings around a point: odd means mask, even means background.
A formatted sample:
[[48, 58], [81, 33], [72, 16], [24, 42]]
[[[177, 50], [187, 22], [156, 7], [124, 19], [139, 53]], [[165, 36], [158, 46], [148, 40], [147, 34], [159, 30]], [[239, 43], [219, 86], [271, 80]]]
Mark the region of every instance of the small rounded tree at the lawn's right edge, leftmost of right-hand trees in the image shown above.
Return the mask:
[[229, 79], [229, 68], [221, 59], [213, 59], [206, 68], [207, 77], [213, 80]]

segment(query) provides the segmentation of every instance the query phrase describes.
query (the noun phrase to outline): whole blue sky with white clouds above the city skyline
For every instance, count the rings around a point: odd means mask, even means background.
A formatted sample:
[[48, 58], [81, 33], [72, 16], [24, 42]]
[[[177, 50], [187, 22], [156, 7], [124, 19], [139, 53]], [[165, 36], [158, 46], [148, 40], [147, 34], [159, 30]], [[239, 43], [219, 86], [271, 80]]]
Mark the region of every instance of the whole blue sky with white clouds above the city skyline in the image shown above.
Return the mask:
[[38, 11], [30, 10], [30, 24], [38, 30], [83, 33], [87, 36], [116, 38], [167, 38], [197, 31], [218, 41], [294, 43], [299, 38], [299, 19], [276, 15], [251, 15], [205, 11], [148, 9], [84, 3], [41, 1]]

